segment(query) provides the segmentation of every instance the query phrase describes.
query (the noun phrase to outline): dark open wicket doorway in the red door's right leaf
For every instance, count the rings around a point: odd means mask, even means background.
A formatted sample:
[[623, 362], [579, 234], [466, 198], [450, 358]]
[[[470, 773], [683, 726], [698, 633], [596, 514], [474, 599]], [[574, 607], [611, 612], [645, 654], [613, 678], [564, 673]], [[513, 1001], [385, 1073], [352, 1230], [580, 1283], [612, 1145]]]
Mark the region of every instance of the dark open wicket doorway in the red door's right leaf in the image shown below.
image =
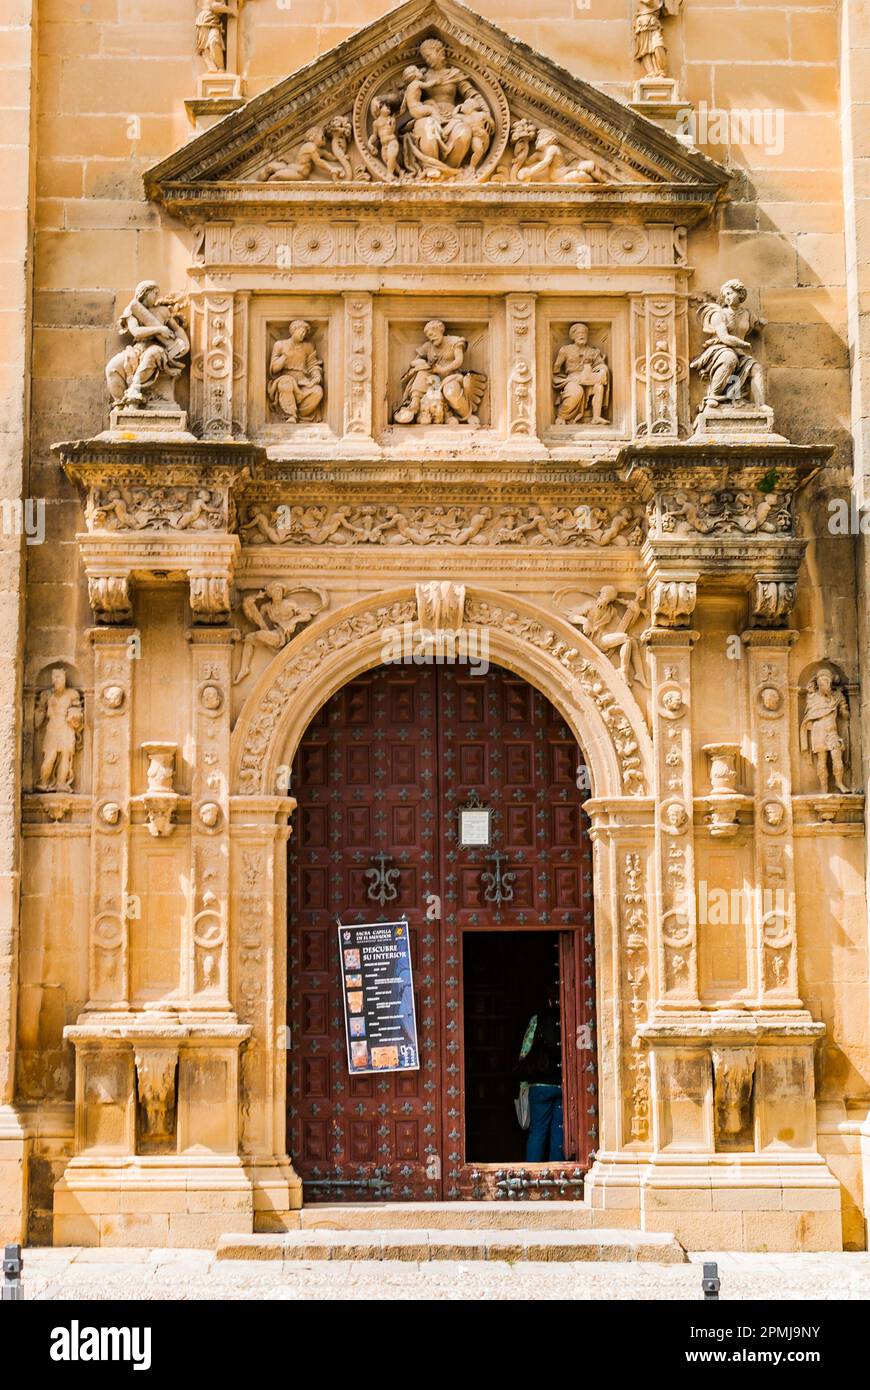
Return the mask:
[[514, 1097], [523, 1036], [548, 994], [559, 998], [556, 931], [466, 931], [466, 1162], [525, 1158]]

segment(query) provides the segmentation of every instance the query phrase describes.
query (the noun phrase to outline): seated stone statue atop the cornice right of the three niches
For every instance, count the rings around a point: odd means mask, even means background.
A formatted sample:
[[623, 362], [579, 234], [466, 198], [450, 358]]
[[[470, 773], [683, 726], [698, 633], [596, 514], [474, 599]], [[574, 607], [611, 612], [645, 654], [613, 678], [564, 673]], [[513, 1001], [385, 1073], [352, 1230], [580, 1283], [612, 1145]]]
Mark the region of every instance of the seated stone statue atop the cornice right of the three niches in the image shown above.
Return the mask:
[[691, 366], [709, 382], [702, 410], [739, 404], [746, 395], [753, 406], [766, 403], [762, 366], [748, 341], [763, 321], [744, 306], [745, 299], [746, 286], [739, 279], [727, 279], [717, 302], [702, 304], [698, 311], [706, 338], [703, 352]]

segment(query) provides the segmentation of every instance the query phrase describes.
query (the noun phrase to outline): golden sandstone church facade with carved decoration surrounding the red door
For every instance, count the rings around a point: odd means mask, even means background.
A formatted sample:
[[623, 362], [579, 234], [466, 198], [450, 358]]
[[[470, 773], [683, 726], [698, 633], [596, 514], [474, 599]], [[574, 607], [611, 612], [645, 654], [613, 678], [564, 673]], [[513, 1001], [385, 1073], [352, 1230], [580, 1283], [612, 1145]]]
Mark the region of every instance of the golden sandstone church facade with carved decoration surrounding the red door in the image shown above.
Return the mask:
[[486, 8], [6, 31], [6, 1238], [292, 1226], [286, 771], [435, 614], [589, 767], [595, 1220], [866, 1245], [837, 13]]

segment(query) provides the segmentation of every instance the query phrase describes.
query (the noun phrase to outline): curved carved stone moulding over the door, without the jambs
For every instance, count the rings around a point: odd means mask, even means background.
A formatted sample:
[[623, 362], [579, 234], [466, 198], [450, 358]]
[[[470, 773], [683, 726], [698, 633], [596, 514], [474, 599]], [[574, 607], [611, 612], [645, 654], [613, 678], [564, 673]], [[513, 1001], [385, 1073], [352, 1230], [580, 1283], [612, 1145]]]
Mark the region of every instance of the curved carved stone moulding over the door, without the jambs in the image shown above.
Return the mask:
[[[404, 628], [407, 624], [407, 628]], [[313, 623], [265, 669], [232, 735], [236, 795], [271, 796], [317, 710], [354, 676], [385, 660], [391, 632], [420, 638], [418, 592], [397, 588]], [[488, 659], [523, 676], [560, 712], [582, 748], [596, 796], [642, 798], [653, 784], [649, 733], [631, 691], [567, 623], [511, 595], [470, 588], [463, 631]]]

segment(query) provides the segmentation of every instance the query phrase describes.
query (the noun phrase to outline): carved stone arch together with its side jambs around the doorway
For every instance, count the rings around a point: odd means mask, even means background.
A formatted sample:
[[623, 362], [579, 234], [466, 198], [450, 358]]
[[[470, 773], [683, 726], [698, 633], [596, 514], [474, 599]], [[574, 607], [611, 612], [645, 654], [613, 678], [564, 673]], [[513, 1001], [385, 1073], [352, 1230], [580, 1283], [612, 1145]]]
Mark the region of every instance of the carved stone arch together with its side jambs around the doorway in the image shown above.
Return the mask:
[[[260, 1190], [258, 1225], [270, 1209], [302, 1204], [302, 1183], [284, 1151], [286, 1093], [286, 862], [295, 801], [286, 774], [315, 712], [353, 677], [379, 666], [389, 630], [418, 628], [410, 587], [363, 599], [300, 634], [261, 674], [236, 721], [231, 749], [231, 941], [235, 1001], [253, 1029], [242, 1059], [242, 1150]], [[652, 745], [631, 691], [610, 664], [567, 623], [525, 600], [474, 588], [461, 594], [463, 630], [486, 632], [493, 663], [521, 676], [561, 714], [584, 751], [593, 803], [607, 819], [623, 803], [630, 819], [648, 820], [653, 784]], [[459, 624], [457, 624], [459, 626]], [[614, 856], [593, 858], [599, 988], [599, 1051], [616, 1047], [620, 1005], [607, 981], [618, 955]], [[618, 1069], [602, 1069], [602, 1144], [617, 1148], [623, 1112]]]

